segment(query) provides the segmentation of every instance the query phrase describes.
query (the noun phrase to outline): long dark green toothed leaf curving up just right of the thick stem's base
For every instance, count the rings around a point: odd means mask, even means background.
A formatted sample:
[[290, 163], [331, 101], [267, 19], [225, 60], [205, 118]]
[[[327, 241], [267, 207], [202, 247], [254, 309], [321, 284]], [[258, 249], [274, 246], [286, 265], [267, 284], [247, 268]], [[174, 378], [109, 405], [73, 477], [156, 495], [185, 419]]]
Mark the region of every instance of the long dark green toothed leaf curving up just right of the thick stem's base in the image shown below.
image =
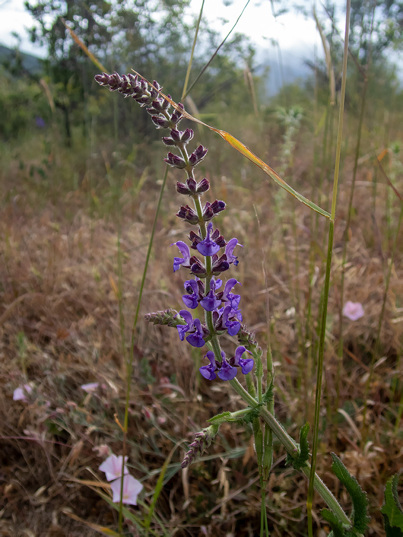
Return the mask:
[[339, 457], [335, 453], [330, 453], [330, 455], [332, 455], [333, 460], [332, 469], [351, 497], [353, 527], [347, 535], [364, 535], [370, 520], [367, 515], [368, 498], [356, 478], [350, 475]]

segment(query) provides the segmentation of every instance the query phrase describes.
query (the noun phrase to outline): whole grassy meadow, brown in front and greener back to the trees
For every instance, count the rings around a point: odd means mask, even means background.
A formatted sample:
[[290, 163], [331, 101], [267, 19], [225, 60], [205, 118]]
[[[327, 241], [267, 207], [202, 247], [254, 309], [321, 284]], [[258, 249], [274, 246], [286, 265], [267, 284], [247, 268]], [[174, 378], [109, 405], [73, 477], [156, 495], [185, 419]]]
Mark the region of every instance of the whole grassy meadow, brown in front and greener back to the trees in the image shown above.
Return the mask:
[[[390, 95], [386, 71], [368, 77], [365, 93], [367, 82], [351, 64], [316, 472], [349, 513], [351, 500], [330, 469], [330, 452], [340, 457], [368, 496], [367, 534], [378, 536], [385, 535], [385, 485], [403, 460], [403, 94], [395, 86]], [[196, 112], [329, 211], [340, 93], [328, 102], [328, 87], [313, 77], [304, 88], [290, 85], [264, 100], [256, 79], [254, 106], [248, 80], [237, 82], [250, 95], [242, 115], [221, 101]], [[129, 99], [92, 84], [103, 106], [119, 101], [120, 111], [127, 108], [121, 113], [130, 113]], [[194, 108], [190, 112], [195, 115]], [[118, 512], [99, 494], [110, 488], [98, 468], [107, 449], [119, 455], [125, 441], [129, 471], [143, 485], [141, 502], [130, 507], [136, 517], [152, 503], [161, 475], [163, 482], [150, 527], [143, 530], [125, 515], [124, 535], [258, 535], [261, 493], [250, 427], [222, 424], [211, 446], [181, 468], [192, 434], [215, 413], [242, 409], [241, 397], [226, 382], [199, 374], [203, 349], [144, 318], [183, 309], [183, 274], [172, 270], [178, 253], [171, 246], [190, 230], [175, 216], [183, 203], [175, 188], [181, 173], [168, 171], [134, 323], [166, 148], [161, 136], [146, 132], [133, 141], [102, 124], [95, 101], [88, 101], [85, 113], [89, 128], [73, 122], [70, 146], [57, 112], [45, 125], [28, 119], [25, 132], [0, 145], [0, 533], [117, 531]], [[141, 114], [142, 124], [150, 122], [145, 110]], [[121, 116], [114, 117], [118, 122]], [[242, 282], [243, 323], [264, 353], [270, 340], [275, 416], [297, 441], [304, 423], [314, 423], [328, 220], [214, 132], [185, 119], [186, 127], [195, 131], [194, 147], [209, 148], [195, 175], [210, 182], [210, 198], [226, 203], [214, 224], [243, 245], [231, 274]], [[362, 305], [356, 320], [344, 309], [348, 301]], [[224, 346], [233, 340], [223, 339]], [[97, 386], [85, 388], [92, 383]], [[23, 397], [13, 400], [17, 388]], [[308, 482], [286, 465], [286, 454], [275, 437], [269, 532], [298, 537], [307, 535]], [[315, 495], [313, 526], [320, 536], [330, 530], [322, 507]]]

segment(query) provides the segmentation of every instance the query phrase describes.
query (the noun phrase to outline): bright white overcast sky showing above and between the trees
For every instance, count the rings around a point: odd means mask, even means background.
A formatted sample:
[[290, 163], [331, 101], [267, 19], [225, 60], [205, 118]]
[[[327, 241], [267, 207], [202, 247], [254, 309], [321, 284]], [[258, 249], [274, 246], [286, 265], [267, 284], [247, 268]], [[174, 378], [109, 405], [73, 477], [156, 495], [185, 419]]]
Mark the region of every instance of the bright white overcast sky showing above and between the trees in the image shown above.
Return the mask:
[[[218, 30], [224, 38], [236, 19], [239, 17], [247, 0], [233, 0], [231, 5], [225, 6], [222, 0], [205, 0], [204, 14], [213, 28]], [[190, 10], [198, 13], [202, 0], [191, 0]], [[222, 19], [228, 20], [224, 24]], [[12, 32], [21, 36], [20, 49], [37, 56], [44, 56], [45, 49], [40, 49], [28, 39], [26, 27], [33, 24], [33, 19], [24, 8], [24, 0], [0, 0], [0, 44], [14, 47], [17, 44]], [[278, 17], [272, 16], [270, 0], [250, 0], [242, 14], [235, 31], [248, 35], [258, 48], [268, 49], [272, 45], [270, 40], [279, 41], [282, 50], [298, 50], [301, 55], [313, 56], [314, 46], [321, 43], [316, 31], [313, 17], [305, 19], [301, 14], [287, 13]]]

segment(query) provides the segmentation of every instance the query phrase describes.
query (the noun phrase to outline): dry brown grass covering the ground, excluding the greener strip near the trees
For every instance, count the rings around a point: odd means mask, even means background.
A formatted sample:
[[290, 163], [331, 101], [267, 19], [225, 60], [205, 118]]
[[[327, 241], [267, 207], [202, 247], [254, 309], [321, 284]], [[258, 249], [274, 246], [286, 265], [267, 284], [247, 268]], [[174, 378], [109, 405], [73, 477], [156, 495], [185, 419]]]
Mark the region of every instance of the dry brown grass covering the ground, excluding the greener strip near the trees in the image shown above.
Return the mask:
[[[309, 171], [312, 164], [305, 149], [301, 141], [294, 163], [293, 184], [309, 197], [312, 187], [307, 184], [307, 175], [317, 176], [319, 171]], [[218, 149], [213, 149], [211, 153], [214, 155], [216, 151]], [[221, 165], [221, 172], [226, 166]], [[391, 243], [385, 240], [384, 193], [387, 187], [378, 184], [376, 213], [373, 214], [368, 181], [371, 170], [361, 168], [348, 244], [344, 297], [362, 302], [365, 316], [356, 322], [345, 320], [343, 324], [341, 411], [337, 411], [340, 301], [337, 287], [341, 277], [343, 223], [351, 168], [348, 160], [337, 212], [318, 473], [340, 497], [341, 503], [348, 506], [346, 492], [339, 490], [330, 471], [328, 453], [340, 454], [368, 493], [372, 516], [370, 534], [383, 535], [379, 513], [383, 486], [387, 478], [398, 471], [403, 456], [397, 421], [401, 418], [398, 408], [403, 373], [403, 237], [399, 238], [394, 259], [380, 355], [376, 358], [367, 397], [369, 430], [363, 445], [365, 386]], [[21, 194], [17, 199], [7, 199], [4, 194], [0, 224], [0, 490], [3, 497], [0, 533], [13, 537], [97, 535], [68, 517], [66, 510], [92, 523], [116, 525], [116, 513], [96, 492], [79, 481], [102, 478], [97, 470], [102, 462], [98, 446], [107, 444], [114, 453], [121, 451], [122, 434], [114, 414], [120, 419], [123, 416], [123, 357], [131, 338], [157, 190], [153, 177], [149, 177], [139, 195], [133, 197], [132, 172], [119, 175], [117, 168], [116, 176], [123, 188], [114, 201], [116, 210], [105, 215], [102, 207], [106, 198], [101, 191], [97, 191], [98, 198], [93, 192], [91, 195], [86, 178], [80, 188], [64, 198], [61, 194], [48, 197], [38, 194], [35, 198], [35, 188], [27, 183], [25, 170], [19, 170], [12, 161], [10, 170], [12, 179], [10, 175], [3, 175], [3, 185], [6, 180], [13, 181]], [[230, 173], [227, 169], [228, 177]], [[299, 315], [305, 327], [310, 255], [314, 251], [318, 267], [312, 289], [316, 319], [326, 229], [321, 224], [318, 236], [312, 237], [311, 214], [306, 207], [294, 204], [297, 222], [297, 237], [294, 237], [291, 213], [285, 212], [283, 228], [276, 219], [272, 204], [275, 188], [260, 176], [256, 179], [257, 172], [248, 163], [243, 163], [235, 176], [234, 180], [209, 176], [213, 195], [224, 199], [228, 205], [217, 224], [228, 238], [236, 236], [244, 245], [240, 264], [235, 269], [238, 272], [232, 271], [232, 277], [242, 282], [244, 321], [256, 330], [262, 345], [266, 338], [264, 252], [274, 331], [276, 413], [287, 431], [297, 438], [305, 419], [312, 423], [315, 372], [313, 366], [312, 369], [307, 366], [308, 346], [299, 345], [296, 316]], [[142, 313], [182, 307], [184, 273], [172, 275], [171, 263], [176, 251], [169, 246], [183, 239], [185, 232], [185, 224], [172, 216], [182, 202], [174, 191], [176, 179], [178, 177], [170, 177], [165, 193]], [[310, 181], [318, 179], [313, 177]], [[39, 182], [38, 179], [38, 185]], [[261, 222], [262, 241], [253, 204]], [[287, 204], [286, 208], [292, 211], [292, 203]], [[395, 223], [397, 204], [392, 209], [392, 223]], [[299, 273], [295, 274], [297, 250]], [[117, 285], [121, 285], [123, 293], [120, 317]], [[291, 309], [295, 296], [298, 298], [296, 313]], [[315, 325], [316, 322], [308, 330], [314, 335]], [[309, 343], [313, 345], [314, 340]], [[129, 465], [135, 477], [144, 478], [147, 502], [154, 490], [157, 470], [176, 442], [188, 441], [191, 433], [203, 427], [206, 419], [217, 411], [239, 408], [239, 400], [224, 383], [200, 378], [195, 362], [202, 354], [198, 349], [181, 344], [176, 330], [141, 321], [134, 351]], [[102, 384], [96, 396], [87, 395], [80, 388], [81, 384], [96, 381]], [[13, 401], [13, 390], [26, 382], [33, 386], [30, 401]], [[250, 434], [243, 427], [221, 427], [217, 441], [204, 454], [203, 461], [186, 471], [179, 468], [183, 453], [182, 444], [172, 458], [167, 473], [169, 480], [156, 507], [156, 515], [167, 534], [256, 535], [260, 492]], [[268, 489], [271, 531], [273, 535], [305, 535], [307, 483], [296, 471], [284, 466], [284, 459], [284, 449], [276, 444], [276, 463]], [[316, 507], [320, 506], [323, 505], [318, 500]], [[319, 521], [317, 518], [316, 523]], [[159, 525], [156, 523], [155, 527]]]

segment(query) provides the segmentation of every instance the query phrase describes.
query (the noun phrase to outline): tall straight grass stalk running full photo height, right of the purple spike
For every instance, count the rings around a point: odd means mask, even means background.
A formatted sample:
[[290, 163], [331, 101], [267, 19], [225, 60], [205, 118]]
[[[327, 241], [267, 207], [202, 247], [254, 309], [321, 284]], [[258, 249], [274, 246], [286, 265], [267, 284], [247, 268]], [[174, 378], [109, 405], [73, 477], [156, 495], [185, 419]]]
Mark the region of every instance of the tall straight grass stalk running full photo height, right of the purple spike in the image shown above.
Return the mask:
[[350, 25], [350, 0], [347, 0], [346, 30], [344, 34], [344, 54], [343, 54], [343, 71], [342, 71], [343, 77], [342, 77], [340, 110], [339, 110], [339, 128], [337, 130], [337, 146], [336, 146], [336, 162], [335, 162], [334, 179], [333, 179], [332, 210], [330, 212], [330, 221], [329, 221], [329, 238], [328, 238], [328, 248], [327, 248], [326, 275], [325, 275], [325, 285], [323, 289], [324, 294], [323, 294], [323, 303], [322, 303], [322, 321], [321, 321], [321, 330], [320, 330], [320, 339], [319, 339], [319, 356], [318, 356], [318, 368], [317, 368], [317, 377], [316, 377], [315, 415], [314, 415], [313, 443], [312, 443], [312, 463], [311, 463], [311, 470], [310, 470], [310, 481], [308, 485], [308, 496], [307, 496], [307, 502], [306, 502], [307, 513], [308, 513], [308, 535], [310, 537], [313, 537], [312, 503], [313, 503], [313, 491], [314, 491], [314, 481], [315, 481], [316, 454], [318, 453], [320, 400], [321, 400], [321, 390], [322, 390], [323, 355], [325, 353], [327, 302], [328, 302], [329, 285], [330, 285], [330, 268], [332, 266], [333, 235], [334, 235], [334, 221], [335, 221], [335, 215], [336, 215], [337, 186], [339, 183], [339, 166], [340, 166], [340, 153], [341, 153], [341, 139], [342, 139], [342, 131], [343, 131], [344, 97], [346, 95], [349, 25]]

